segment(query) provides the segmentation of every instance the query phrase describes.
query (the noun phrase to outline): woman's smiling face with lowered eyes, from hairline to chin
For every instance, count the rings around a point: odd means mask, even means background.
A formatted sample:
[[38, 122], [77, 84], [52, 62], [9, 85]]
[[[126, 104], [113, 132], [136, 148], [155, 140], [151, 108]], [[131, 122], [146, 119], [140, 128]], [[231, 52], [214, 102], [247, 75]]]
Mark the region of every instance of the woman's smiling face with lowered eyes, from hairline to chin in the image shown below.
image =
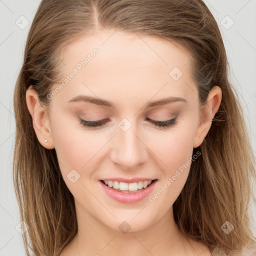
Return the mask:
[[122, 221], [145, 229], [172, 210], [210, 126], [191, 56], [157, 37], [103, 30], [66, 45], [60, 58], [47, 139], [76, 211], [114, 230]]

